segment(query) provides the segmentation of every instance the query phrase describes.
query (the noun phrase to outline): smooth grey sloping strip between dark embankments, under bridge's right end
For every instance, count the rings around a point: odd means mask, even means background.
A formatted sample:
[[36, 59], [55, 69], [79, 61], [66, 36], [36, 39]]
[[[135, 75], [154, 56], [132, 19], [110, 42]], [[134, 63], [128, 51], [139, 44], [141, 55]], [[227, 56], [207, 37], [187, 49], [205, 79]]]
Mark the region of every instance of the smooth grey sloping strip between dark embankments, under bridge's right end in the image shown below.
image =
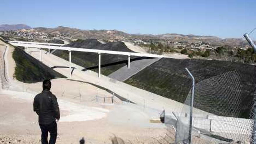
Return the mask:
[[138, 60], [131, 61], [130, 69], [128, 69], [127, 65], [125, 65], [124, 67], [121, 67], [120, 69], [108, 75], [108, 77], [118, 81], [125, 81], [126, 79], [130, 78], [134, 74], [138, 73], [159, 59], [160, 58], [138, 58]]

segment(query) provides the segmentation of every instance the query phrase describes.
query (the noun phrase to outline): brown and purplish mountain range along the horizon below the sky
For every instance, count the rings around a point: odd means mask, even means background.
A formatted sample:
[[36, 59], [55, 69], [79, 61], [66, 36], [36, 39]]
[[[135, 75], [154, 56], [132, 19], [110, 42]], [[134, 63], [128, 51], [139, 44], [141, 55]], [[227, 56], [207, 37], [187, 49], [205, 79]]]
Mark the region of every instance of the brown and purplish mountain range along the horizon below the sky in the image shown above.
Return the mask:
[[[17, 25], [0, 25], [0, 31], [18, 30], [18, 29], [32, 29], [25, 24]], [[99, 40], [116, 40], [133, 42], [135, 39], [143, 40], [143, 42], [183, 42], [183, 43], [198, 43], [205, 42], [212, 46], [230, 45], [232, 47], [245, 47], [248, 42], [241, 38], [218, 38], [216, 36], [204, 35], [182, 35], [176, 33], [167, 33], [160, 35], [152, 34], [129, 34], [118, 30], [81, 30], [58, 26], [56, 28], [37, 27], [34, 30], [49, 34], [64, 33], [74, 39], [99, 39]], [[242, 35], [242, 33], [241, 33]]]

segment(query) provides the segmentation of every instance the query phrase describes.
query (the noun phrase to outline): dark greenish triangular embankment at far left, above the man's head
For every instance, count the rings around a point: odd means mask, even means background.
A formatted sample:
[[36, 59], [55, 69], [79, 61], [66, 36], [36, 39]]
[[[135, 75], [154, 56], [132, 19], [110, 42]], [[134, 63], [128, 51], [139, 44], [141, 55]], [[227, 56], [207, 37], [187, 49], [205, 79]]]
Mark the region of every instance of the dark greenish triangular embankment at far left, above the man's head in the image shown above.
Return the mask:
[[35, 83], [44, 79], [65, 77], [17, 47], [13, 51], [13, 59], [16, 63], [14, 77], [18, 81]]

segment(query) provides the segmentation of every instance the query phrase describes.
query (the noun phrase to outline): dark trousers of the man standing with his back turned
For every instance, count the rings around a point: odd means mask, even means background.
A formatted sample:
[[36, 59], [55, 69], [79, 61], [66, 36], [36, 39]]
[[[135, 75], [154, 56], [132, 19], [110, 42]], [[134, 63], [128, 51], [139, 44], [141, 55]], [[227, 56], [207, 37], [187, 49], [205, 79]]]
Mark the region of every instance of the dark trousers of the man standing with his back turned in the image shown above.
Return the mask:
[[48, 131], [50, 132], [50, 141], [49, 144], [55, 144], [56, 142], [56, 138], [57, 138], [57, 123], [56, 121], [53, 121], [52, 123], [48, 124], [48, 125], [42, 125], [39, 124], [41, 131], [42, 131], [42, 135], [41, 135], [41, 140], [42, 140], [42, 144], [48, 144]]

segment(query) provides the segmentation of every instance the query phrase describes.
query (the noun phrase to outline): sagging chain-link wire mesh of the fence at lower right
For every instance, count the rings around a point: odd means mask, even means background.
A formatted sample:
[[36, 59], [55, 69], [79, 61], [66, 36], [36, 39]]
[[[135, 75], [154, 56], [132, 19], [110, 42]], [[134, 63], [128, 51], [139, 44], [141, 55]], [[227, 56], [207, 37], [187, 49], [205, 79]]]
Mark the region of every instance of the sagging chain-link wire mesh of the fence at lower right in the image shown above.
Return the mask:
[[[176, 143], [189, 143], [191, 90], [177, 116]], [[191, 143], [253, 142], [255, 105], [252, 106], [248, 118], [241, 118], [241, 91], [239, 73], [236, 71], [226, 72], [195, 84]], [[168, 129], [172, 127], [169, 126]]]

